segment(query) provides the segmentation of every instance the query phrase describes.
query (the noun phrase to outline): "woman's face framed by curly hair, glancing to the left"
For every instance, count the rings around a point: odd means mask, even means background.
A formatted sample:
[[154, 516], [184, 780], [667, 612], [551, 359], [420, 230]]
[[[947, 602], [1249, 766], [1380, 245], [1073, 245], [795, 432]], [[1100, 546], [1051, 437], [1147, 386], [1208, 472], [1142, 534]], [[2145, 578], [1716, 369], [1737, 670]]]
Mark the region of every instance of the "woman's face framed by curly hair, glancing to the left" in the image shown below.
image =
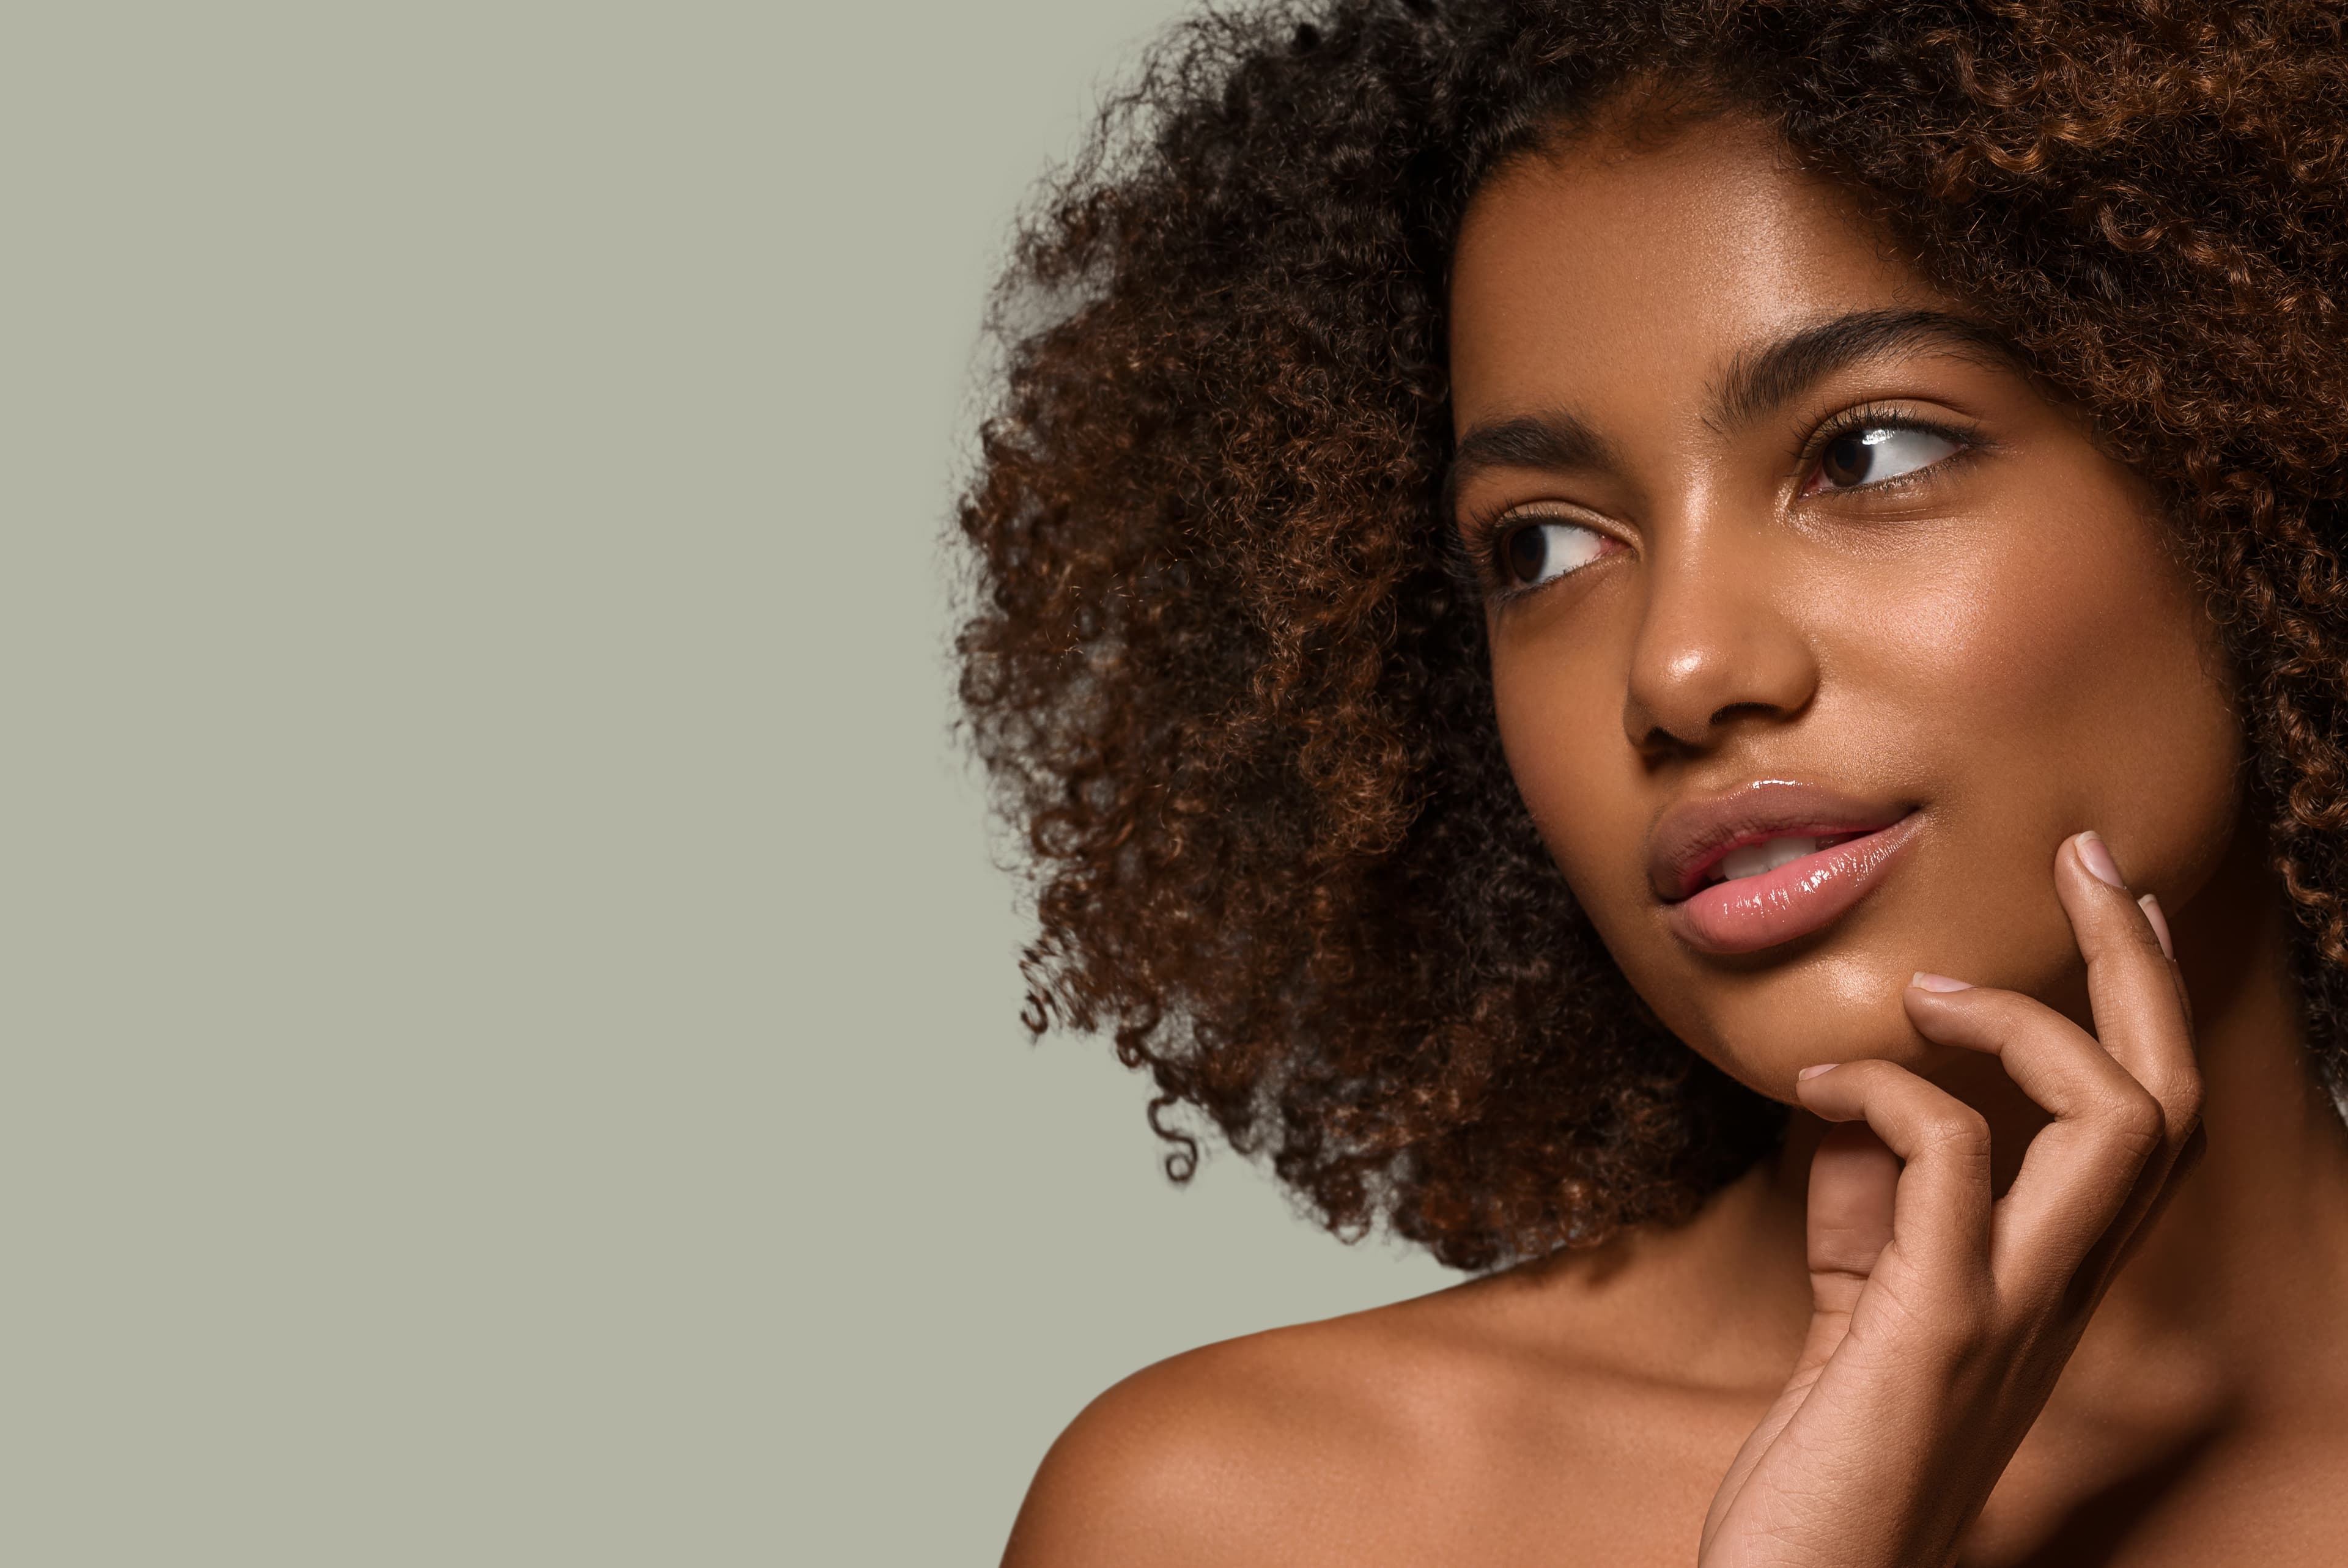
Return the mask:
[[1916, 969], [2078, 1007], [2064, 836], [2209, 878], [2242, 739], [2146, 488], [1763, 131], [1505, 169], [1451, 310], [1500, 737], [1681, 1040], [1923, 1063]]

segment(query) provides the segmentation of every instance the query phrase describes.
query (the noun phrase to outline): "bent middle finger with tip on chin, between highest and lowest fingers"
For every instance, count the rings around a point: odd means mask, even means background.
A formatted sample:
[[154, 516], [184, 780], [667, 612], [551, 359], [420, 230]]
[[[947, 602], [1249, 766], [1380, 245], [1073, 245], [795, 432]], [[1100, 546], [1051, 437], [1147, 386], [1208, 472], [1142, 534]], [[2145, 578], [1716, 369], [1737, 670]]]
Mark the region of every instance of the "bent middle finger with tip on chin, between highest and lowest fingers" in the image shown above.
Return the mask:
[[2017, 1284], [2066, 1277], [2127, 1209], [2163, 1148], [2160, 1103], [2094, 1035], [2015, 991], [1918, 974], [1902, 995], [1925, 1040], [1996, 1056], [2054, 1122], [2031, 1138], [1996, 1207], [1991, 1268]]

